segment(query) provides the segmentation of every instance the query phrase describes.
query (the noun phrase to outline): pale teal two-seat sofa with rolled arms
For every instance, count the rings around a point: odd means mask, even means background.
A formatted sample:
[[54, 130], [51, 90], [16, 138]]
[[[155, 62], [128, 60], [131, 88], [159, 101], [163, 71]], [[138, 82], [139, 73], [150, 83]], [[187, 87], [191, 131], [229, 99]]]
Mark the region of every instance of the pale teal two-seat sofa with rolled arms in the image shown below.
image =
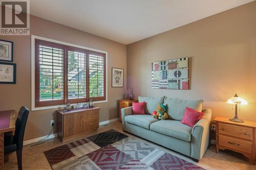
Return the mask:
[[[144, 115], [133, 115], [132, 107], [121, 109], [123, 131], [187, 155], [197, 162], [203, 157], [209, 144], [211, 109], [202, 109], [202, 100], [139, 96], [139, 102], [146, 102]], [[157, 104], [162, 103], [168, 106], [168, 119], [153, 118], [151, 113], [156, 110]], [[193, 128], [181, 123], [186, 107], [204, 112], [203, 117]]]

